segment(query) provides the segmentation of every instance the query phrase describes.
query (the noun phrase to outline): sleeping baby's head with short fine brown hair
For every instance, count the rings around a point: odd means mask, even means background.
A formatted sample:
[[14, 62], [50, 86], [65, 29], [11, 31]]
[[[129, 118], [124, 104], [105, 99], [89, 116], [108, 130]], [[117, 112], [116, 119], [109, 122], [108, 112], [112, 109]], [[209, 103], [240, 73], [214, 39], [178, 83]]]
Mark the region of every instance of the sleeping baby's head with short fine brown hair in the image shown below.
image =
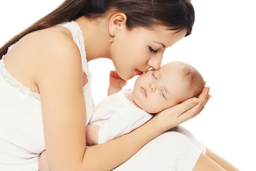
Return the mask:
[[198, 97], [203, 89], [204, 79], [198, 70], [183, 62], [170, 62], [137, 78], [133, 100], [146, 112], [158, 113]]

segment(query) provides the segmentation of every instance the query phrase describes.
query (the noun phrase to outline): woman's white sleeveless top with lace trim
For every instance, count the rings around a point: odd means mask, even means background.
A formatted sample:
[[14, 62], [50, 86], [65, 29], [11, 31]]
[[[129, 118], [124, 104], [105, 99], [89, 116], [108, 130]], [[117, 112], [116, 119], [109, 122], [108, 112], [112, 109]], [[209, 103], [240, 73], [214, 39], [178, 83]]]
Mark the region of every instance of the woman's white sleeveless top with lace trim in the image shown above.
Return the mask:
[[[84, 86], [86, 125], [93, 113], [91, 73], [86, 60], [84, 37], [78, 23], [59, 24], [70, 30], [79, 47], [82, 68], [88, 83]], [[8, 52], [15, 46], [9, 47]], [[7, 52], [7, 53], [8, 53]], [[4, 56], [3, 56], [4, 58]], [[0, 171], [38, 171], [38, 157], [45, 150], [40, 95], [32, 93], [12, 77], [0, 60]]]

